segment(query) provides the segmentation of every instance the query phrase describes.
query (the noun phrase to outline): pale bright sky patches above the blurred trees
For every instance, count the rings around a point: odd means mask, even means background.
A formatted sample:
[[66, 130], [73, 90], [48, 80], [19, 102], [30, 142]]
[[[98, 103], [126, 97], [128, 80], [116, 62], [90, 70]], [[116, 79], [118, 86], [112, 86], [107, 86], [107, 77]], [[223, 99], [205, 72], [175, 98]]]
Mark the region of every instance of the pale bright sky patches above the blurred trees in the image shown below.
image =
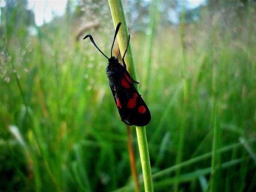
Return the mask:
[[[189, 0], [190, 7], [196, 7], [205, 0]], [[0, 6], [4, 0], [0, 0]], [[62, 15], [65, 12], [67, 0], [28, 0], [28, 8], [33, 9], [35, 13], [35, 22], [37, 26], [44, 22], [50, 22], [54, 15]]]

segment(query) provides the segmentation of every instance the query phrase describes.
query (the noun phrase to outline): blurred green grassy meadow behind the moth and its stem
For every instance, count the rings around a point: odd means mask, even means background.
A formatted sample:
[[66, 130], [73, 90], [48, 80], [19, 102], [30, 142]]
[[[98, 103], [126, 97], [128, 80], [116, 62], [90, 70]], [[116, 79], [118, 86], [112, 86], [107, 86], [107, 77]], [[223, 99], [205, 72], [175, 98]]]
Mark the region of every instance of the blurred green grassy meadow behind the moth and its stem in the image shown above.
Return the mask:
[[[0, 191], [134, 191], [107, 60], [82, 40], [110, 55], [108, 3], [37, 26], [26, 0], [0, 2]], [[255, 191], [255, 1], [190, 5], [124, 1], [155, 191]]]

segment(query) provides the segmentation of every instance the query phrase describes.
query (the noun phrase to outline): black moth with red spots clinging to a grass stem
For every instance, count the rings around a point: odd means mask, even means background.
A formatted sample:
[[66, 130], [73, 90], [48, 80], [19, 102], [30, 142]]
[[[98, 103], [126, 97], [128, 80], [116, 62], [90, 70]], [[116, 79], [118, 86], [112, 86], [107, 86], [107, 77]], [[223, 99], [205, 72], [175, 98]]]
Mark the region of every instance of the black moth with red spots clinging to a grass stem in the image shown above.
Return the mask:
[[101, 54], [103, 54], [108, 59], [108, 66], [106, 69], [108, 82], [122, 121], [127, 125], [145, 126], [150, 122], [150, 112], [146, 103], [141, 98], [141, 95], [138, 93], [133, 85], [133, 83], [139, 82], [132, 79], [126, 69], [126, 65], [124, 62], [124, 56], [130, 42], [130, 35], [127, 47], [122, 57], [123, 65], [121, 65], [121, 63], [119, 63], [117, 59], [120, 52], [118, 53], [117, 57], [112, 56], [114, 42], [120, 26], [121, 22], [119, 22], [116, 27], [114, 41], [111, 46], [110, 58], [108, 58], [94, 43], [91, 35], [86, 35], [84, 39], [89, 37], [92, 44], [101, 52]]

